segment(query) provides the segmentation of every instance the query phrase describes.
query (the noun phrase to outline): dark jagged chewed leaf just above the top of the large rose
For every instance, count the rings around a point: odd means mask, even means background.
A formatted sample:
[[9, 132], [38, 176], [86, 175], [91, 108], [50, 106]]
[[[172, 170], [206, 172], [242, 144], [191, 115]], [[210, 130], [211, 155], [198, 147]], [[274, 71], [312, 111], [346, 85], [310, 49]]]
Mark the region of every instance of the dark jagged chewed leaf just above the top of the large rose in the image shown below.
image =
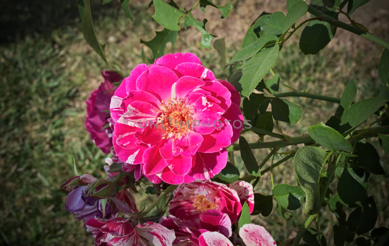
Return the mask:
[[165, 28], [162, 31], [156, 31], [155, 33], [156, 36], [150, 41], [140, 40], [140, 43], [144, 43], [152, 50], [154, 60], [165, 54], [166, 43], [170, 42], [173, 47], [178, 32]]

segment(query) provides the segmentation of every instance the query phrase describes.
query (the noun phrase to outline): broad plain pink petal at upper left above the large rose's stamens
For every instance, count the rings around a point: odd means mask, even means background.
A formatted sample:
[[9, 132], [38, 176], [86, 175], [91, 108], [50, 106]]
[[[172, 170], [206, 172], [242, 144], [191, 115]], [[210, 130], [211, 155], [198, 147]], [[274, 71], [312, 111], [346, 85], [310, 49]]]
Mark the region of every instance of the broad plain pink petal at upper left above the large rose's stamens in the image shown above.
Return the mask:
[[145, 90], [155, 95], [160, 101], [168, 101], [172, 86], [177, 82], [177, 75], [164, 66], [151, 66], [137, 79], [137, 90]]

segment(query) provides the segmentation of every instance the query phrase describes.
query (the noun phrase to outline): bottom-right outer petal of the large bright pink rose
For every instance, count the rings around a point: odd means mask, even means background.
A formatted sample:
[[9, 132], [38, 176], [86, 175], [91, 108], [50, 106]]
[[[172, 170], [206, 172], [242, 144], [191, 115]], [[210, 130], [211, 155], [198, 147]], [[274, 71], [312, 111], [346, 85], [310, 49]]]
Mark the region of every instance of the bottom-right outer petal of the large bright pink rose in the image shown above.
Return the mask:
[[227, 149], [223, 148], [220, 152], [196, 154], [195, 165], [188, 173], [190, 177], [206, 180], [214, 177], [227, 164]]

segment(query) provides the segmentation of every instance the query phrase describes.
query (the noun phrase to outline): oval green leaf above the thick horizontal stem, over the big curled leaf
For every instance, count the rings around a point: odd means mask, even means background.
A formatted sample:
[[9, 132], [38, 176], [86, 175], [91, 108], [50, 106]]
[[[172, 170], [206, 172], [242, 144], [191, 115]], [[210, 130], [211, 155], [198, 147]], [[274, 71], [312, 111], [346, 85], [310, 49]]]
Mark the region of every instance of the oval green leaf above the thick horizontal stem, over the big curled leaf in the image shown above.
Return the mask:
[[308, 133], [315, 142], [330, 151], [354, 151], [350, 142], [347, 141], [342, 134], [323, 123], [310, 126], [308, 128]]

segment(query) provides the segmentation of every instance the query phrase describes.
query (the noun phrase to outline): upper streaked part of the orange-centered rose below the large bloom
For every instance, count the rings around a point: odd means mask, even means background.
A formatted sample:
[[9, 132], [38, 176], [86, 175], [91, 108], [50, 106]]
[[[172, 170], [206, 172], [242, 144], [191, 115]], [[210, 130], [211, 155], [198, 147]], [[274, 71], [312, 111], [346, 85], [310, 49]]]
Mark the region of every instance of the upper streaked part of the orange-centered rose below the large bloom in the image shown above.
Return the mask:
[[245, 201], [250, 204], [251, 213], [254, 209], [254, 193], [252, 185], [245, 181], [238, 180], [230, 187], [211, 180], [194, 181], [181, 184], [173, 191], [169, 212], [181, 220], [196, 221], [207, 210], [219, 210], [226, 213], [234, 223]]

